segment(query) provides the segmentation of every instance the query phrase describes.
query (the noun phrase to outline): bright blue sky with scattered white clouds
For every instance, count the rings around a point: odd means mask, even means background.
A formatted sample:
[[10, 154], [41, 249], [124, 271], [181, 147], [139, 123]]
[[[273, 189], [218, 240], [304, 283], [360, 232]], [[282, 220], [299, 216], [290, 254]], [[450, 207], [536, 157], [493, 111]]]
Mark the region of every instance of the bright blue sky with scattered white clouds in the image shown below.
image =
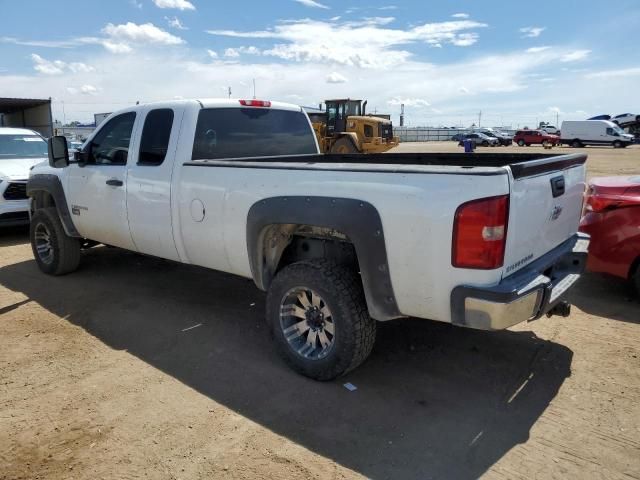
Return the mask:
[[0, 0], [0, 96], [368, 100], [409, 126], [640, 113], [640, 2]]

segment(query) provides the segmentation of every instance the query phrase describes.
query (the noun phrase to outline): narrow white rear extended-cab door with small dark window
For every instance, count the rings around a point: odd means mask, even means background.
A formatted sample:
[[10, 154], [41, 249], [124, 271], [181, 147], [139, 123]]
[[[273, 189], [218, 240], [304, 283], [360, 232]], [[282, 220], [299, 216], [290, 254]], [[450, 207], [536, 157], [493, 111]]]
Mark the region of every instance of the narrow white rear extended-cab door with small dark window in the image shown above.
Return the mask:
[[138, 251], [180, 260], [173, 239], [171, 178], [183, 107], [140, 112], [142, 134], [128, 164], [127, 212]]

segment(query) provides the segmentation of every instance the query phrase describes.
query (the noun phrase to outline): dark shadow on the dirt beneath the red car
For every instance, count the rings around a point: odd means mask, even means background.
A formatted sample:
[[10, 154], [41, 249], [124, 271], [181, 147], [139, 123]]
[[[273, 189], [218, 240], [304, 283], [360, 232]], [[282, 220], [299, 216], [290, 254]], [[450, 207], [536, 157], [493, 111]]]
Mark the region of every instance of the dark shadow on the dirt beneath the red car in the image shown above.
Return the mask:
[[631, 285], [621, 278], [585, 273], [569, 300], [590, 315], [640, 323], [640, 301]]

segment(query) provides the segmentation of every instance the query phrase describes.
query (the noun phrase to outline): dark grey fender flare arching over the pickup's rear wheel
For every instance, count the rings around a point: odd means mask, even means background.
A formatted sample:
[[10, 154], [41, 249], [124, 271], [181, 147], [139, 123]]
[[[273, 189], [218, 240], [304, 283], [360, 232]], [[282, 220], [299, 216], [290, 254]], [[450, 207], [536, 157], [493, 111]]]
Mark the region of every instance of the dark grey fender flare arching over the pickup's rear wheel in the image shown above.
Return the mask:
[[269, 226], [298, 224], [326, 227], [346, 235], [358, 256], [369, 314], [376, 320], [402, 317], [393, 293], [382, 221], [368, 202], [330, 197], [271, 197], [247, 214], [247, 250], [253, 280], [267, 290], [274, 272], [266, 268], [263, 245]]

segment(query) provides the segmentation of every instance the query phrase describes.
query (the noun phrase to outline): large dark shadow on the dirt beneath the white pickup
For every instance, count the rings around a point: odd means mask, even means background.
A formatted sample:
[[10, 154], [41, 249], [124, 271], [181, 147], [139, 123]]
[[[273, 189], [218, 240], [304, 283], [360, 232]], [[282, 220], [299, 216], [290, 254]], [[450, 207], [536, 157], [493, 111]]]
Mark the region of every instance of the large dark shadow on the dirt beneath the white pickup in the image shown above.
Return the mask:
[[570, 376], [571, 350], [531, 332], [407, 319], [380, 326], [359, 369], [314, 382], [276, 355], [250, 280], [117, 249], [87, 252], [65, 277], [9, 265], [0, 284], [373, 479], [479, 477], [528, 439]]

